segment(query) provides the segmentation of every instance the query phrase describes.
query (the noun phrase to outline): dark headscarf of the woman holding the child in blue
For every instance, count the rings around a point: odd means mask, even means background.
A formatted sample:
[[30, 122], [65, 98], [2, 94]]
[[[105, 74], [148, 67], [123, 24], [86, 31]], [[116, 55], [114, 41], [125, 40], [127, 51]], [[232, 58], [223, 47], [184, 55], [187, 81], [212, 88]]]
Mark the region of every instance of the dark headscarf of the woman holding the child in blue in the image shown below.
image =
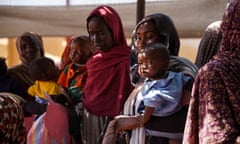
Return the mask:
[[[166, 37], [166, 40], [168, 41], [168, 49], [170, 52], [170, 55], [178, 56], [179, 47], [180, 47], [180, 40], [177, 33], [177, 30], [175, 28], [175, 25], [172, 21], [172, 19], [164, 15], [162, 13], [152, 14], [144, 17], [134, 28], [133, 31], [133, 44], [135, 44], [135, 36], [138, 27], [147, 22], [153, 20], [157, 26], [157, 31], [159, 34]], [[134, 47], [136, 47], [134, 45]]]

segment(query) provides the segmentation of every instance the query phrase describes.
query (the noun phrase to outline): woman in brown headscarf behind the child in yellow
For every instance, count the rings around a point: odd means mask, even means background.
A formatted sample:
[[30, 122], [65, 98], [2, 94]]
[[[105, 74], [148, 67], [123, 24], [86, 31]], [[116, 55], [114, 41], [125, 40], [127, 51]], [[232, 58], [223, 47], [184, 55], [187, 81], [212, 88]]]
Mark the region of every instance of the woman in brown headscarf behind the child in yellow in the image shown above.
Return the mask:
[[25, 100], [34, 100], [33, 97], [27, 95], [28, 87], [34, 82], [30, 75], [29, 65], [34, 59], [44, 56], [42, 39], [37, 33], [25, 32], [17, 38], [16, 46], [21, 64], [9, 68], [8, 73], [26, 92], [22, 97]]

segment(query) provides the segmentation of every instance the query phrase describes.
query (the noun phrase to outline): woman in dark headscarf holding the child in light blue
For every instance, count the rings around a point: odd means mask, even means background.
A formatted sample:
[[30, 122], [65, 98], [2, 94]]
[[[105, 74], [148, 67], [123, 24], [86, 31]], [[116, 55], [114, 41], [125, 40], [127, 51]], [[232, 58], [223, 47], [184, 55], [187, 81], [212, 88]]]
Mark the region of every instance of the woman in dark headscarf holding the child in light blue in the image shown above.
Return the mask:
[[[133, 32], [133, 46], [135, 51], [132, 52], [131, 60], [135, 59], [136, 56], [134, 56], [134, 54], [144, 49], [147, 44], [155, 42], [164, 44], [169, 50], [170, 63], [168, 70], [182, 72], [185, 75], [190, 76], [191, 80], [189, 83], [184, 85], [182, 109], [170, 116], [151, 116], [150, 120], [144, 124], [144, 127], [150, 130], [162, 132], [162, 135], [159, 138], [176, 139], [177, 141], [181, 141], [185, 126], [192, 82], [198, 72], [198, 68], [189, 60], [177, 56], [180, 43], [176, 28], [171, 18], [161, 13], [148, 15], [136, 25], [136, 28]], [[136, 83], [136, 86], [141, 84], [142, 79], [140, 79], [139, 76], [141, 75], [141, 72], [138, 71], [138, 64], [132, 66], [131, 74], [133, 83]], [[139, 87], [135, 88], [135, 91], [132, 92], [129, 99], [125, 103], [124, 108], [129, 107], [129, 103], [131, 104], [131, 101], [134, 101], [134, 99], [138, 98], [140, 89], [141, 88]], [[134, 108], [135, 103], [132, 103], [130, 107]], [[124, 114], [127, 115], [128, 113]], [[148, 142], [154, 144], [159, 138], [151, 136], [149, 137]]]

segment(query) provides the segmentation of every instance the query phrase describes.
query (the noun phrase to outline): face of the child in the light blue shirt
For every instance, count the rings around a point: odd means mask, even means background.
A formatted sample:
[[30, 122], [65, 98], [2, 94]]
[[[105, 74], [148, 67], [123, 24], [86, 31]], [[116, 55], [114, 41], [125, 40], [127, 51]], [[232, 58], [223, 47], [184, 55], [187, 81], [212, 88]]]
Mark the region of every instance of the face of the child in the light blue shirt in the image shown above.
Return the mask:
[[138, 54], [139, 72], [143, 77], [157, 80], [165, 77], [166, 64], [159, 59], [154, 52], [143, 52]]

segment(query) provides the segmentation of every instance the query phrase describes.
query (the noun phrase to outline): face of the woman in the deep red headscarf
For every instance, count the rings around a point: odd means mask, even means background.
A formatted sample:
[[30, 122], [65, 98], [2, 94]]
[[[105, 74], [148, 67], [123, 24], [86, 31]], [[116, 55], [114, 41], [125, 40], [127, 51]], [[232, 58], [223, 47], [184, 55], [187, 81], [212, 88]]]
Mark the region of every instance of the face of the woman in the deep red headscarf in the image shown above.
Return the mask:
[[101, 18], [94, 16], [89, 20], [88, 33], [96, 49], [106, 52], [113, 47], [111, 31]]

